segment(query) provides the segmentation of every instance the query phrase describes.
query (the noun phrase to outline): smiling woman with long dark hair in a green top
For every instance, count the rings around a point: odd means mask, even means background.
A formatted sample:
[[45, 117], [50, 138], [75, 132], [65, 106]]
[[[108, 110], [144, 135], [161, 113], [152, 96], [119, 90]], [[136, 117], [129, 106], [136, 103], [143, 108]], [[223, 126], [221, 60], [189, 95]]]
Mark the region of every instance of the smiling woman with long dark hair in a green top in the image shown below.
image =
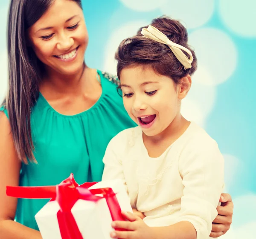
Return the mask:
[[[87, 44], [80, 0], [11, 1], [9, 91], [0, 112], [2, 239], [41, 238], [34, 216], [47, 202], [9, 198], [6, 185], [55, 185], [70, 172], [79, 184], [99, 181], [108, 142], [134, 126], [118, 80], [84, 63]], [[229, 228], [230, 201], [219, 208], [216, 233]]]

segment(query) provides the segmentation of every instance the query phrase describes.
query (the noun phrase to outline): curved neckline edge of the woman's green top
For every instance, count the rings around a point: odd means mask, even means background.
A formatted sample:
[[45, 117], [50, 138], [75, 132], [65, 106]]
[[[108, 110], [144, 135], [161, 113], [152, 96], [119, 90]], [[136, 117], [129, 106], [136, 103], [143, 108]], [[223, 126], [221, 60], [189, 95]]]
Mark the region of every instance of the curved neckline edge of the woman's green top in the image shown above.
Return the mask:
[[102, 71], [100, 70], [96, 70], [97, 71], [97, 74], [99, 74], [99, 78], [100, 78], [100, 83], [101, 83], [101, 86], [102, 86], [102, 94], [101, 96], [99, 97], [99, 99], [95, 102], [95, 104], [88, 108], [87, 110], [85, 111], [82, 111], [78, 114], [73, 114], [73, 115], [67, 115], [67, 114], [61, 114], [59, 113], [58, 111], [56, 111], [54, 108], [52, 108], [52, 106], [49, 104], [49, 102], [44, 98], [44, 96], [41, 94], [41, 92], [39, 91], [39, 96], [38, 96], [38, 100], [42, 100], [42, 102], [44, 103], [44, 105], [47, 105], [53, 112], [55, 112], [55, 114], [58, 114], [59, 116], [61, 117], [66, 117], [66, 118], [73, 118], [73, 117], [79, 117], [83, 114], [87, 114], [88, 112], [90, 112], [91, 110], [97, 108], [97, 106], [100, 104], [100, 102], [102, 101], [102, 99], [104, 98], [105, 96], [105, 81], [103, 80], [103, 75], [102, 75]]

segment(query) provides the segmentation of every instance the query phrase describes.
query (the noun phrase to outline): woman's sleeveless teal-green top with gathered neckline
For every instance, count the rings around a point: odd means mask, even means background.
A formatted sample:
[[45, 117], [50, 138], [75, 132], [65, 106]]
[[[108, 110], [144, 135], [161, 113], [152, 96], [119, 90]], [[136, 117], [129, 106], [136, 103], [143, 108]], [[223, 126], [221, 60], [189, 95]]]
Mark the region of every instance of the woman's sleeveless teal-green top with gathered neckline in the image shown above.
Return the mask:
[[[22, 164], [20, 186], [57, 185], [73, 173], [76, 182], [98, 182], [108, 142], [134, 127], [117, 92], [117, 79], [98, 71], [102, 95], [93, 107], [66, 116], [56, 112], [39, 94], [31, 113], [32, 139], [38, 164]], [[6, 109], [0, 108], [7, 115]], [[8, 117], [8, 115], [7, 115]], [[38, 230], [35, 214], [49, 199], [18, 199], [16, 221]]]

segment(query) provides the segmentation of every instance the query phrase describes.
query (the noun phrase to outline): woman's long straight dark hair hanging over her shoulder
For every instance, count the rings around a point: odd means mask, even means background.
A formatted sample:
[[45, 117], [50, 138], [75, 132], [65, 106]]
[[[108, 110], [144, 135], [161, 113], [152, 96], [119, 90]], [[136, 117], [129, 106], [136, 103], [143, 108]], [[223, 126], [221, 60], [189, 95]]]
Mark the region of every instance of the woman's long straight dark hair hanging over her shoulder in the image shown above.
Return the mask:
[[[44, 64], [27, 43], [27, 30], [54, 0], [11, 0], [8, 17], [9, 84], [3, 105], [7, 108], [18, 158], [34, 161], [30, 113], [38, 98]], [[81, 7], [81, 0], [73, 0]]]

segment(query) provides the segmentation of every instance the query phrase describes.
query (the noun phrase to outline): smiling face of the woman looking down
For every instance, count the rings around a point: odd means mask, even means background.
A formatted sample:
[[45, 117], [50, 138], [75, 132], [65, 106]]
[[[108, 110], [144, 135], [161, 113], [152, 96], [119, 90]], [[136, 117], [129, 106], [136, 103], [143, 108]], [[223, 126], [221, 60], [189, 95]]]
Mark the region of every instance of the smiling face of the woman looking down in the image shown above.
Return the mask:
[[75, 1], [54, 0], [28, 34], [30, 45], [46, 68], [64, 75], [81, 69], [88, 33], [83, 11]]

